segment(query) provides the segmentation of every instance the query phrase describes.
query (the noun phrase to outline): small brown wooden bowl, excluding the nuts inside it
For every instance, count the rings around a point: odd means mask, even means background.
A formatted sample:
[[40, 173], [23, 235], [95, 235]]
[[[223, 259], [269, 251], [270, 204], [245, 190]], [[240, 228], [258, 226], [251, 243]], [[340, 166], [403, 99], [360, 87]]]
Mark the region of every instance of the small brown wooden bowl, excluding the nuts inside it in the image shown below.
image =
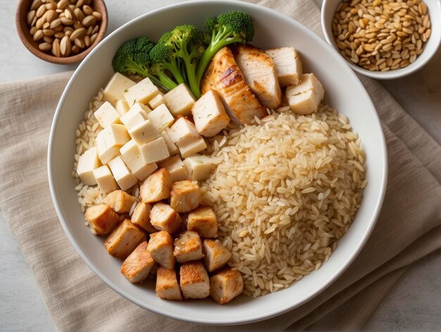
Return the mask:
[[25, 47], [32, 52], [35, 56], [38, 56], [40, 59], [44, 61], [48, 61], [51, 63], [68, 65], [72, 63], [78, 63], [85, 59], [85, 56], [89, 54], [89, 51], [92, 51], [94, 47], [97, 46], [99, 42], [104, 38], [107, 30], [107, 9], [106, 4], [104, 4], [103, 0], [92, 0], [90, 6], [94, 9], [94, 11], [98, 11], [101, 13], [101, 21], [99, 22], [99, 30], [97, 38], [94, 40], [93, 44], [84, 49], [82, 52], [75, 54], [73, 56], [54, 56], [49, 52], [41, 51], [38, 48], [39, 42], [35, 42], [30, 35], [30, 27], [27, 25], [26, 16], [32, 4], [32, 0], [20, 0], [18, 1], [17, 12], [15, 13], [15, 27], [17, 28], [18, 36], [21, 41], [25, 45]]

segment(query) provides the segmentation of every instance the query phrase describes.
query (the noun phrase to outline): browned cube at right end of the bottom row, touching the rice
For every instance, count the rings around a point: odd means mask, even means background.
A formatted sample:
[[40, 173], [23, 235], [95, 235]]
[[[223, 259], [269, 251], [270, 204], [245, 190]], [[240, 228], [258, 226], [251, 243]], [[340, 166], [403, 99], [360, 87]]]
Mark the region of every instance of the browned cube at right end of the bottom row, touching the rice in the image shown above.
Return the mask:
[[225, 269], [210, 278], [210, 295], [221, 305], [242, 294], [244, 281], [239, 271]]

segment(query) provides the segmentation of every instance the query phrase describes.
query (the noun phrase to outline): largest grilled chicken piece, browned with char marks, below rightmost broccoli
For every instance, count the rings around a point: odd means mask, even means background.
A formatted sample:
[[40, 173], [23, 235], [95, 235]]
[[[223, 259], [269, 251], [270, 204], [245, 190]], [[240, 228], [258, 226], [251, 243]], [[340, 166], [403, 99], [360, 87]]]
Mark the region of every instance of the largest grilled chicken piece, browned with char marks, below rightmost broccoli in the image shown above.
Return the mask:
[[211, 60], [213, 72], [210, 68], [202, 82], [203, 92], [214, 80], [216, 89], [221, 94], [225, 110], [232, 121], [239, 125], [249, 124], [254, 116], [263, 118], [268, 115], [265, 106], [257, 100], [245, 82], [244, 75], [237, 66], [234, 56], [228, 47], [223, 47]]

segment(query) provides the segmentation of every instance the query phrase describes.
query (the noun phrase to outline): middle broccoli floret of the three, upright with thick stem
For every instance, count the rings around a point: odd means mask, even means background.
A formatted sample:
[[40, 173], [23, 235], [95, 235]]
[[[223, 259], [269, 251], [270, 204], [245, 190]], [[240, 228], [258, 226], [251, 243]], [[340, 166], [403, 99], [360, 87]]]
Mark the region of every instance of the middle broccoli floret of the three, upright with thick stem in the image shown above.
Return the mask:
[[[199, 59], [204, 53], [204, 35], [194, 25], [178, 25], [172, 31], [164, 34], [158, 42], [170, 51], [171, 59], [180, 59], [185, 68], [184, 79], [190, 86], [194, 97], [201, 97], [197, 82]], [[151, 55], [152, 56], [152, 55]], [[178, 63], [175, 63], [178, 66]], [[174, 74], [173, 74], [174, 75]]]

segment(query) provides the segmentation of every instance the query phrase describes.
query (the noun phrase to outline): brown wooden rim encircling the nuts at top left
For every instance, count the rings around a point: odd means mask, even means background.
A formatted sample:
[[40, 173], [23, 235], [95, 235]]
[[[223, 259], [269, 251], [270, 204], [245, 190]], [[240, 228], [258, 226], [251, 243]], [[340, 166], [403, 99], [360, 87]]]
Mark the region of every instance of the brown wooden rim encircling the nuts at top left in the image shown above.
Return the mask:
[[[73, 63], [78, 63], [82, 61], [82, 59], [85, 59], [85, 57], [94, 49], [97, 47], [99, 42], [104, 39], [106, 36], [107, 26], [108, 26], [108, 14], [107, 14], [107, 7], [104, 0], [92, 0], [97, 1], [98, 6], [100, 7], [99, 13], [101, 13], [101, 23], [99, 25], [98, 35], [97, 38], [95, 38], [94, 42], [87, 48], [85, 48], [83, 51], [81, 51], [78, 54], [75, 54], [73, 56], [54, 56], [53, 54], [46, 53], [44, 51], [40, 51], [38, 47], [35, 47], [32, 42], [30, 42], [30, 39], [32, 39], [32, 36], [30, 36], [30, 32], [28, 30], [23, 29], [23, 25], [27, 27], [27, 23], [23, 22], [21, 18], [22, 13], [22, 6], [24, 4], [31, 4], [31, 0], [19, 0], [17, 2], [17, 6], [15, 9], [15, 30], [17, 31], [18, 37], [20, 37], [20, 40], [23, 44], [23, 46], [30, 51], [32, 54], [37, 56], [37, 58], [42, 59], [43, 61], [55, 63], [56, 65], [70, 65]], [[26, 16], [24, 16], [26, 17]]]

